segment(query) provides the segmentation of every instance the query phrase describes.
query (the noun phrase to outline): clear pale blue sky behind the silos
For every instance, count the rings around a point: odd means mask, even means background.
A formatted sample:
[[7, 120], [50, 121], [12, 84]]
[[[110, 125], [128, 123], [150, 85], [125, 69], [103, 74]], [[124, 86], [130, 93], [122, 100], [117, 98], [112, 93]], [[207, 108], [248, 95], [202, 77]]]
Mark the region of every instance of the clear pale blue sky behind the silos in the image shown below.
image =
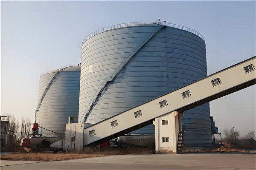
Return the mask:
[[[100, 28], [158, 18], [206, 40], [208, 74], [256, 55], [256, 1], [1, 1], [1, 114], [32, 117], [39, 77], [81, 61]], [[255, 130], [256, 86], [210, 102], [215, 125]]]

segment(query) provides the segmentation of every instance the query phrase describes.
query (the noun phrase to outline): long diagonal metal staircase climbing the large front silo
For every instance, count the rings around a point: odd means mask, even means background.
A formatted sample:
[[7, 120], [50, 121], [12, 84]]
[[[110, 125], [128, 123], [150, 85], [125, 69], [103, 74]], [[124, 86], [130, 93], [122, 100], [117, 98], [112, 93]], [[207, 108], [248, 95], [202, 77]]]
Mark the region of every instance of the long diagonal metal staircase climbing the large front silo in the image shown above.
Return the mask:
[[[156, 23], [157, 24], [157, 23]], [[159, 25], [159, 24], [158, 24]], [[163, 28], [163, 25], [160, 25], [161, 28]], [[155, 34], [157, 34], [157, 32], [161, 29], [159, 28], [140, 48], [142, 48]], [[94, 94], [93, 98], [91, 99], [89, 105], [87, 105], [87, 108], [85, 109], [83, 116], [81, 117], [82, 122], [86, 122], [88, 119], [88, 116], [90, 115], [90, 113], [93, 111], [93, 108], [96, 106], [96, 104], [99, 102], [99, 99], [103, 96], [103, 94], [108, 90], [108, 88], [113, 84], [114, 80], [117, 78], [117, 76], [124, 70], [126, 63], [128, 63], [130, 61], [130, 59], [140, 50], [140, 48], [128, 59], [128, 61], [126, 62], [122, 62], [118, 68], [120, 68], [120, 70], [116, 73], [116, 71], [114, 71], [113, 74], [116, 74], [113, 78], [112, 75], [110, 78], [112, 78], [111, 80], [104, 80], [102, 82], [102, 84], [99, 86], [98, 90], [96, 91], [96, 93]], [[125, 60], [124, 60], [125, 61]], [[116, 68], [116, 70], [118, 69]], [[103, 86], [102, 86], [103, 85]], [[100, 89], [100, 87], [102, 86], [102, 88]], [[99, 92], [98, 92], [99, 91]]]

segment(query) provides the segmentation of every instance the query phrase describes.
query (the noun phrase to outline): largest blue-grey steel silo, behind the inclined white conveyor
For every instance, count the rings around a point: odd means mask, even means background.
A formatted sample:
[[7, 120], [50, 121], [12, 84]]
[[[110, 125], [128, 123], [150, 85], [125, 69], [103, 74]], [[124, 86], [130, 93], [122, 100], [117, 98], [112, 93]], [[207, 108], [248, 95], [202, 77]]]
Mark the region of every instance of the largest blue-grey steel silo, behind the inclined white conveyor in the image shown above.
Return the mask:
[[[175, 24], [127, 23], [82, 44], [79, 121], [97, 123], [207, 76], [204, 38]], [[113, 80], [105, 87], [106, 82]], [[209, 103], [184, 112], [184, 146], [211, 145]], [[135, 133], [154, 133], [149, 125]]]

